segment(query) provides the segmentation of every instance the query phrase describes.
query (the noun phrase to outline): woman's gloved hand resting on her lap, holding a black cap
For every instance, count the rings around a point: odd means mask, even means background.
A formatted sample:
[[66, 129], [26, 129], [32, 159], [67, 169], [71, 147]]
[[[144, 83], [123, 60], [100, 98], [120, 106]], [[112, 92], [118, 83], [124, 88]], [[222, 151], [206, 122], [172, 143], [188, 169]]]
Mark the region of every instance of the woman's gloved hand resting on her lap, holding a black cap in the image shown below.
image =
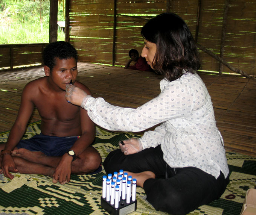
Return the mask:
[[128, 154], [134, 154], [139, 151], [142, 151], [142, 144], [140, 142], [140, 139], [136, 138], [131, 138], [131, 139], [126, 139], [124, 141], [119, 142], [119, 147], [123, 154], [128, 155]]

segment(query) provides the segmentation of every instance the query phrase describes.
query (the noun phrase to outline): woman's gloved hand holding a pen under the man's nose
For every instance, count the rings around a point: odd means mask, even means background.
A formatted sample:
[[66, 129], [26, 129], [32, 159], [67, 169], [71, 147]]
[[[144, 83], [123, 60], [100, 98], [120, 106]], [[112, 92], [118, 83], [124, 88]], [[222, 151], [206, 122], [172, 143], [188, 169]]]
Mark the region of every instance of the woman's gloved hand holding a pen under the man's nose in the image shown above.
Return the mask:
[[87, 96], [87, 93], [82, 89], [76, 87], [72, 84], [66, 85], [66, 100], [72, 104], [81, 106], [84, 97]]

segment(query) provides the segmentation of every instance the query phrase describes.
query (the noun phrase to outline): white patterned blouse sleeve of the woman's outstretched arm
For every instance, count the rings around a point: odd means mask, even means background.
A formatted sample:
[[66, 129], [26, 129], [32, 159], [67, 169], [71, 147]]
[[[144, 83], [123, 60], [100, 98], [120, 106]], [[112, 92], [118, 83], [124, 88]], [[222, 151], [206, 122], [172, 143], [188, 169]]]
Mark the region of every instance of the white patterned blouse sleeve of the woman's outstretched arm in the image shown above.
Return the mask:
[[192, 110], [188, 87], [172, 83], [142, 106], [121, 108], [103, 98], [89, 97], [84, 108], [94, 123], [108, 130], [139, 132], [167, 120], [183, 117]]

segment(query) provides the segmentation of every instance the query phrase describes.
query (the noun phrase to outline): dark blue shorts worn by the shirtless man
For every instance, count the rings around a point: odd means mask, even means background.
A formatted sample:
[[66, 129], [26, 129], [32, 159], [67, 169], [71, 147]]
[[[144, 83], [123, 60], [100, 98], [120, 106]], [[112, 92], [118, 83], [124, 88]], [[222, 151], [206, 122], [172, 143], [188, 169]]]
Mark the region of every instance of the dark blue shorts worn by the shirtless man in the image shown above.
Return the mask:
[[40, 134], [30, 139], [21, 140], [16, 147], [26, 148], [30, 151], [41, 151], [47, 156], [62, 156], [74, 145], [78, 138], [79, 136], [58, 137]]

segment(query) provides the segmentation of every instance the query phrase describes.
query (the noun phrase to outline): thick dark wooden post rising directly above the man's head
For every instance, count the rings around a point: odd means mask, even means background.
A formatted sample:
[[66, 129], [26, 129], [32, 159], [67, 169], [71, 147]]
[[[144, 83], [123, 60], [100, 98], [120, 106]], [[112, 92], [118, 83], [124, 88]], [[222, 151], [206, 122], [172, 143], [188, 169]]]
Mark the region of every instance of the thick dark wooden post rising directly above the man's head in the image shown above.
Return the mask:
[[49, 42], [58, 40], [58, 0], [50, 0]]

